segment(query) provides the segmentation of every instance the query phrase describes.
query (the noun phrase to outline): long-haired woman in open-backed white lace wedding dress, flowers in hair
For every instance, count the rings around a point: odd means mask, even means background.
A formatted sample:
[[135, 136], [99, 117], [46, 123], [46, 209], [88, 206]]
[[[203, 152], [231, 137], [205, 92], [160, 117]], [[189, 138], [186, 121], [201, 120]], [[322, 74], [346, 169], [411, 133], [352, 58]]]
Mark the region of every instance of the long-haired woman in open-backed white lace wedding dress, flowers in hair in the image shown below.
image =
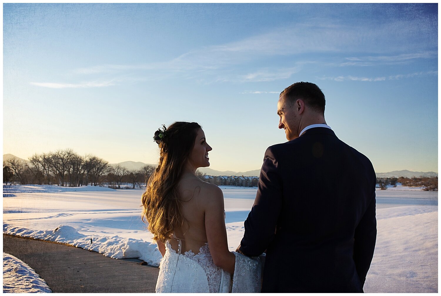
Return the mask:
[[195, 175], [210, 165], [204, 131], [175, 122], [153, 139], [160, 158], [142, 195], [142, 218], [163, 256], [156, 292], [228, 292], [238, 254], [228, 251], [221, 189]]

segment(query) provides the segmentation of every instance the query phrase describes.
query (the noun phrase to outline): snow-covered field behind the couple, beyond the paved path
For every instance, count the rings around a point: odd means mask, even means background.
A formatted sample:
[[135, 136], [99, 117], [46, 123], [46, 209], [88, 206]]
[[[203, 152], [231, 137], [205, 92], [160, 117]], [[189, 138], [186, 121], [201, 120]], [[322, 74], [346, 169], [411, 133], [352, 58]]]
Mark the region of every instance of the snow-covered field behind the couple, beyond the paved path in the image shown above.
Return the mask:
[[[221, 189], [228, 246], [234, 251], [257, 188]], [[67, 243], [116, 259], [139, 258], [158, 266], [161, 254], [140, 218], [141, 195], [139, 189], [4, 186], [4, 233]], [[437, 196], [437, 192], [402, 186], [377, 190], [377, 244], [365, 292], [438, 291]]]

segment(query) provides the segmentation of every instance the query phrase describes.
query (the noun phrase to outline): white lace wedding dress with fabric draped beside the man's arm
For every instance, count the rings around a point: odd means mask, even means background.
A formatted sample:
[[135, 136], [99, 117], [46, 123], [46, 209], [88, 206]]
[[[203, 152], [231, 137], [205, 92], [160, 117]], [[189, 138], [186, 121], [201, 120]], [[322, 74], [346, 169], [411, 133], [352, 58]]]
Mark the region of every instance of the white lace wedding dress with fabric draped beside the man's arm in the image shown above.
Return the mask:
[[[178, 241], [178, 248], [181, 244]], [[208, 243], [198, 254], [191, 250], [176, 253], [169, 242], [160, 263], [157, 293], [247, 293], [260, 292], [265, 256], [247, 257], [235, 253], [235, 272], [230, 274], [214, 265]]]

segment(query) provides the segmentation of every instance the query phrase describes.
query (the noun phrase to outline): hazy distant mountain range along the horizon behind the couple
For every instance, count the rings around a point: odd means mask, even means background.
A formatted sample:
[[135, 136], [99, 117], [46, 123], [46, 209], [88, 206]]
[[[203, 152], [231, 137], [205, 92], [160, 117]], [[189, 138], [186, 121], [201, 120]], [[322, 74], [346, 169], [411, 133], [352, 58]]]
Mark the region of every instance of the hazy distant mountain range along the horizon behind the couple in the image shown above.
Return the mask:
[[[3, 154], [3, 161], [7, 161], [8, 159], [14, 158], [15, 156], [12, 154]], [[19, 158], [19, 157], [17, 157]], [[19, 158], [21, 159], [21, 158]], [[26, 161], [29, 162], [28, 160], [24, 160], [22, 159], [22, 161]], [[156, 167], [156, 164], [146, 164], [143, 163], [141, 161], [123, 161], [123, 162], [119, 162], [119, 163], [111, 163], [110, 165], [115, 166], [115, 165], [121, 165], [123, 167], [125, 167], [128, 170], [138, 170], [141, 169], [144, 165], [152, 165], [154, 167]], [[233, 171], [217, 171], [215, 169], [210, 169], [210, 168], [199, 168], [199, 171], [206, 173], [207, 175], [210, 176], [259, 176], [260, 174], [260, 169], [255, 169], [253, 171], [247, 171], [247, 172], [233, 172]], [[391, 178], [391, 177], [406, 177], [406, 178], [411, 178], [413, 176], [415, 177], [419, 177], [419, 176], [423, 176], [423, 177], [437, 177], [438, 173], [437, 172], [411, 172], [408, 171], [407, 169], [402, 170], [402, 171], [393, 171], [393, 172], [377, 172], [375, 173], [377, 175], [377, 178]]]

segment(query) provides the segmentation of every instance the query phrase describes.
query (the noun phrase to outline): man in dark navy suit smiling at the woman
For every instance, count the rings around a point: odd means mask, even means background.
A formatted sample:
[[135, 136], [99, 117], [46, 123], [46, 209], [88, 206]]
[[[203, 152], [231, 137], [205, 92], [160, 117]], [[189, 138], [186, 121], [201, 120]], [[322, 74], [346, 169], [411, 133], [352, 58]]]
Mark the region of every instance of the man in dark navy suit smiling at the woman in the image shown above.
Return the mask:
[[265, 152], [237, 251], [266, 253], [262, 292], [363, 292], [377, 235], [374, 168], [326, 125], [314, 83], [288, 86], [277, 108], [288, 142]]

